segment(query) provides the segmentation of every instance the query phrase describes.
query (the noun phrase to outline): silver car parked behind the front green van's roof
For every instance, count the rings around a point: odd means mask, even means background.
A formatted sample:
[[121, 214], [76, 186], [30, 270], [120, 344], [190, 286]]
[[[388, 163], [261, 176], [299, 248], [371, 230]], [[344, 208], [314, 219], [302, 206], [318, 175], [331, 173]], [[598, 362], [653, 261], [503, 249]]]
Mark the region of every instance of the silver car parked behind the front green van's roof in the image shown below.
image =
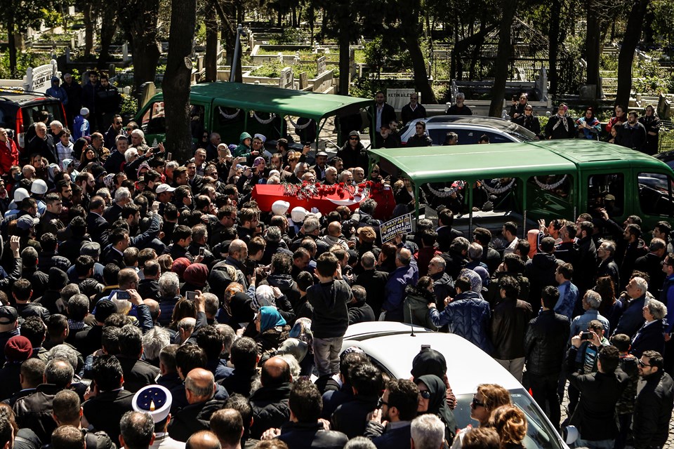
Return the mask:
[[407, 140], [414, 135], [414, 124], [417, 121], [426, 123], [426, 133], [433, 141], [433, 145], [442, 145], [447, 138], [447, 133], [458, 135], [458, 145], [475, 144], [482, 135], [489, 137], [489, 143], [536, 140], [534, 133], [512, 121], [484, 116], [438, 115], [407, 123], [400, 130], [402, 145], [405, 145]]

